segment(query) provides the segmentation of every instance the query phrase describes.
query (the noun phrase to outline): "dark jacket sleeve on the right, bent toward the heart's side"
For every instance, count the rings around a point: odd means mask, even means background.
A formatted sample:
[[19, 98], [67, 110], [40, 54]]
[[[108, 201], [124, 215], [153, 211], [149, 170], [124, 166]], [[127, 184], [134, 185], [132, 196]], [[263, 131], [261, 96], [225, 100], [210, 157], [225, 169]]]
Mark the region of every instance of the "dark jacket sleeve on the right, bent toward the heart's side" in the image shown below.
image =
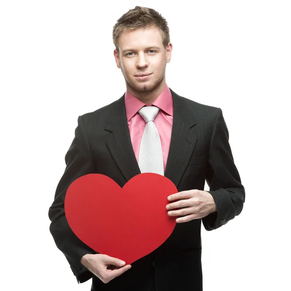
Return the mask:
[[229, 134], [222, 110], [218, 108], [213, 127], [206, 181], [217, 211], [202, 218], [206, 230], [225, 225], [242, 212], [245, 191], [229, 146]]

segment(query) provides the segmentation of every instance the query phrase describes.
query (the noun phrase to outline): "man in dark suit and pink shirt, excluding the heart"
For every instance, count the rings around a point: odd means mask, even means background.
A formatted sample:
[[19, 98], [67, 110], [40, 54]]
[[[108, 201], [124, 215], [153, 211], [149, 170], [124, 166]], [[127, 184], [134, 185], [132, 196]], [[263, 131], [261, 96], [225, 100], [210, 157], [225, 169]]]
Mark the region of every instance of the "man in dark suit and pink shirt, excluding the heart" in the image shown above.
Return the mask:
[[[155, 10], [129, 10], [114, 25], [113, 42], [127, 91], [79, 116], [49, 209], [50, 232], [77, 281], [92, 278], [92, 291], [202, 291], [201, 221], [207, 230], [226, 224], [241, 213], [245, 197], [222, 110], [180, 97], [167, 86], [173, 46], [167, 22]], [[106, 175], [123, 187], [146, 171], [162, 172], [176, 185], [178, 193], [165, 208], [177, 216], [177, 225], [159, 248], [124, 265], [75, 236], [65, 218], [65, 192], [86, 174]], [[210, 191], [203, 191], [205, 179]]]

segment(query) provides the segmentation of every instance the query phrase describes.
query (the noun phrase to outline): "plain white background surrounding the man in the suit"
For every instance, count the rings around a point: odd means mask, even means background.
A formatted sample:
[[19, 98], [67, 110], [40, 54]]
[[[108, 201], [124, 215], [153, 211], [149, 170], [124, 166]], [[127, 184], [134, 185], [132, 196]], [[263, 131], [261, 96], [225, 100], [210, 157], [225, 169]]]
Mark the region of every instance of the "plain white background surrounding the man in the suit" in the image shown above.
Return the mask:
[[202, 229], [204, 290], [291, 290], [291, 8], [280, 0], [0, 2], [0, 289], [90, 290], [48, 210], [78, 116], [126, 90], [112, 28], [135, 5], [168, 21], [169, 87], [222, 109], [246, 190], [239, 216]]

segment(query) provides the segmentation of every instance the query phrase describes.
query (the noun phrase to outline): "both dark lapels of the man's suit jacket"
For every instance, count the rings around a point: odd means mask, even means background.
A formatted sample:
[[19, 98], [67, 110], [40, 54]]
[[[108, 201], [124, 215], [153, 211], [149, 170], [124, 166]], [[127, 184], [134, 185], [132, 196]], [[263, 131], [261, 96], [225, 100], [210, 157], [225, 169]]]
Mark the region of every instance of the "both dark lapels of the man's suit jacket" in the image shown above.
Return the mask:
[[[197, 142], [197, 137], [191, 130], [196, 122], [185, 101], [174, 91], [171, 90], [171, 93], [174, 116], [164, 176], [178, 187]], [[112, 132], [106, 144], [121, 173], [129, 180], [141, 172], [130, 140], [124, 97], [125, 94], [111, 105], [104, 129]]]

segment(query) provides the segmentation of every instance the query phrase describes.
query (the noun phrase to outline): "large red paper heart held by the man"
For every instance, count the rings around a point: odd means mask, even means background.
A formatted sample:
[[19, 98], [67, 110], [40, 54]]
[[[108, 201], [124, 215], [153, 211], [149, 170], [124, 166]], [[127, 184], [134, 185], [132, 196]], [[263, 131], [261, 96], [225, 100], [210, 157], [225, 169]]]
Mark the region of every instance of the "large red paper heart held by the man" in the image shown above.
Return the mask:
[[177, 217], [166, 210], [174, 183], [142, 173], [121, 188], [113, 179], [88, 174], [76, 179], [65, 195], [65, 215], [76, 236], [100, 254], [127, 264], [158, 248], [173, 232]]

